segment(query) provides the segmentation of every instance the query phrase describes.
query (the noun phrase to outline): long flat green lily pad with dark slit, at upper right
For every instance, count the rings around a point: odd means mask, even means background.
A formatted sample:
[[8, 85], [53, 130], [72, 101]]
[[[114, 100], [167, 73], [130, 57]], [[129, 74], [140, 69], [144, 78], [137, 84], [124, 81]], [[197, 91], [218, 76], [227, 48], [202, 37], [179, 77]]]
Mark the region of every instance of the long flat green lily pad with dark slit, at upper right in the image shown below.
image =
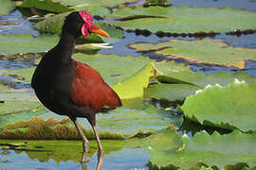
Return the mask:
[[[229, 32], [255, 29], [256, 12], [237, 8], [149, 7], [118, 8], [108, 18], [123, 29], [172, 33]], [[132, 18], [132, 19], [131, 19]]]

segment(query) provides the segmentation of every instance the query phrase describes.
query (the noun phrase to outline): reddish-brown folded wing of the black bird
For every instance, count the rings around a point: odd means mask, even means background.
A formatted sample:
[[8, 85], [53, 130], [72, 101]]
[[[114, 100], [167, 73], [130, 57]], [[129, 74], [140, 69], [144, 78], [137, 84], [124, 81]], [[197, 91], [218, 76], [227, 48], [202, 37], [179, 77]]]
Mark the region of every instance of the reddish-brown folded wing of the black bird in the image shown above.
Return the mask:
[[78, 106], [86, 106], [98, 111], [102, 107], [121, 106], [119, 95], [102, 79], [101, 75], [82, 62], [75, 62], [75, 75], [72, 81], [72, 100]]

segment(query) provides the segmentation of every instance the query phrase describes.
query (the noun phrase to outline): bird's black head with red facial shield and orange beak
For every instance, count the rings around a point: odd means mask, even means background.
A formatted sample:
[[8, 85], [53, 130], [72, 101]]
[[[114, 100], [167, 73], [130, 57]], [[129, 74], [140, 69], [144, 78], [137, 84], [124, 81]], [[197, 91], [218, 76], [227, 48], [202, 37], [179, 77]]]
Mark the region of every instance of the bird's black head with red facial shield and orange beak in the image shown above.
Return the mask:
[[63, 32], [70, 33], [76, 38], [86, 37], [91, 33], [109, 37], [108, 33], [93, 24], [93, 18], [84, 10], [72, 12], [65, 17]]

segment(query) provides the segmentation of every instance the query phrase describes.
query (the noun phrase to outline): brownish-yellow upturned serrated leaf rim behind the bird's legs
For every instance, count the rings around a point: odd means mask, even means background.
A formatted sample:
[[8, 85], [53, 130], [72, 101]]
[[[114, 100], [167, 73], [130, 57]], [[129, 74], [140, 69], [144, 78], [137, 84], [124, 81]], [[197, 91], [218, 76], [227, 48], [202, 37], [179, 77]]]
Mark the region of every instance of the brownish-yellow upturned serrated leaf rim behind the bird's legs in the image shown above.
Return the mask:
[[[39, 117], [32, 117], [27, 121], [18, 121], [12, 124], [1, 126], [0, 139], [23, 139], [23, 140], [80, 140], [81, 135], [69, 118], [62, 121], [51, 117], [43, 120]], [[95, 139], [91, 127], [88, 130], [82, 128], [88, 139]], [[121, 133], [113, 133], [104, 130], [100, 132], [101, 139], [124, 140]]]

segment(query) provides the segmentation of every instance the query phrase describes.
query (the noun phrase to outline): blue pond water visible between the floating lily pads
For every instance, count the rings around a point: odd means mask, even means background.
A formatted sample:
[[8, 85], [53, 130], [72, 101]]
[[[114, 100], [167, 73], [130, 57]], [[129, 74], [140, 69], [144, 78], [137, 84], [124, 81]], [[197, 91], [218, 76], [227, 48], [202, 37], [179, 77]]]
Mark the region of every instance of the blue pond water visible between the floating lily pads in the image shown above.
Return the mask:
[[[137, 6], [143, 4], [144, 1], [139, 0], [136, 4], [129, 4], [129, 6]], [[216, 8], [242, 8], [248, 10], [256, 10], [256, 1], [250, 0], [172, 0], [171, 3], [174, 6], [190, 6], [190, 7], [216, 7]], [[17, 26], [4, 26], [0, 25], [0, 34], [23, 34], [28, 33], [33, 36], [38, 36], [39, 32], [32, 28], [31, 22], [27, 21], [26, 17], [22, 15], [19, 10], [12, 11], [9, 15], [0, 16], [0, 21], [9, 21], [18, 23]], [[116, 54], [120, 57], [132, 55], [134, 57], [144, 56], [145, 58], [163, 60], [166, 59], [165, 56], [158, 55], [155, 56], [152, 52], [137, 52], [137, 50], [129, 48], [130, 44], [136, 42], [166, 42], [168, 40], [198, 40], [199, 38], [192, 37], [157, 37], [155, 34], [149, 36], [137, 35], [136, 32], [123, 31], [123, 39], [111, 42], [111, 49], [101, 49], [100, 54]], [[221, 40], [228, 43], [230, 46], [243, 47], [243, 48], [256, 48], [256, 33], [232, 36], [227, 34], [216, 35], [213, 38], [207, 37], [210, 40]], [[107, 42], [107, 40], [106, 40]], [[235, 72], [247, 72], [251, 76], [256, 76], [256, 61], [247, 60], [245, 69], [238, 70], [234, 67], [224, 67], [219, 65], [210, 64], [195, 64], [188, 62], [184, 59], [174, 59], [176, 62], [185, 62], [191, 66], [192, 71], [202, 72], [204, 74], [218, 73], [220, 71], [226, 71], [230, 73]], [[18, 69], [34, 67], [35, 65], [29, 61], [14, 61], [0, 58], [0, 69]], [[12, 83], [12, 87], [15, 89], [29, 89], [29, 84], [26, 83], [16, 83], [12, 80], [11, 76], [0, 76], [0, 81]], [[179, 131], [182, 134], [181, 131]], [[192, 134], [188, 132], [188, 135], [192, 137]], [[27, 151], [29, 152], [29, 151]], [[51, 170], [51, 169], [62, 169], [62, 170], [76, 170], [85, 169], [82, 167], [81, 163], [75, 163], [74, 161], [61, 161], [57, 163], [54, 160], [49, 161], [39, 161], [38, 159], [29, 158], [27, 152], [19, 151], [13, 149], [0, 148], [0, 169], [5, 170], [19, 170], [19, 169], [38, 169], [38, 170]], [[150, 160], [150, 156], [147, 152], [140, 148], [123, 148], [120, 151], [111, 152], [106, 155], [103, 161], [103, 169], [112, 170], [127, 170], [132, 168], [144, 167], [145, 170], [148, 169], [146, 166], [147, 162]], [[97, 164], [97, 154], [94, 154], [92, 158], [86, 163], [87, 169], [94, 169]], [[1, 169], [1, 170], [2, 170]]]

